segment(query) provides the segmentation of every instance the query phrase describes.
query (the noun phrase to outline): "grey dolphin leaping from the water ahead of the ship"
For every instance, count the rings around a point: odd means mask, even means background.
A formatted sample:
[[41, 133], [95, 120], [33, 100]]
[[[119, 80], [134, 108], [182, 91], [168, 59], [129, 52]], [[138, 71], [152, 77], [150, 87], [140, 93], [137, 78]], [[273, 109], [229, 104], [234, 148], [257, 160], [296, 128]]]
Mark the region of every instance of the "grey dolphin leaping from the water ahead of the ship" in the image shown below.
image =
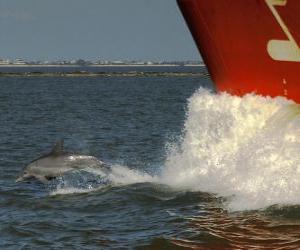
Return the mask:
[[16, 182], [33, 178], [47, 183], [68, 171], [87, 167], [105, 167], [105, 164], [94, 156], [64, 152], [64, 141], [60, 140], [50, 153], [29, 163], [21, 176], [16, 179]]

